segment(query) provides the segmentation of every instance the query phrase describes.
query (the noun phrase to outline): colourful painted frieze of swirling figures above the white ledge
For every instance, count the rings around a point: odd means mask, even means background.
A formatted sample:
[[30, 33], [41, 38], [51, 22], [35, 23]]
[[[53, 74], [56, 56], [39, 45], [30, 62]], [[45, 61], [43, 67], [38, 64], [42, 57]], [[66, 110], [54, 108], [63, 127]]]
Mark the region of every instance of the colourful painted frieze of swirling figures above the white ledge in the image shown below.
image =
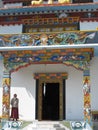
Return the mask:
[[97, 31], [0, 35], [0, 47], [90, 44], [97, 37]]

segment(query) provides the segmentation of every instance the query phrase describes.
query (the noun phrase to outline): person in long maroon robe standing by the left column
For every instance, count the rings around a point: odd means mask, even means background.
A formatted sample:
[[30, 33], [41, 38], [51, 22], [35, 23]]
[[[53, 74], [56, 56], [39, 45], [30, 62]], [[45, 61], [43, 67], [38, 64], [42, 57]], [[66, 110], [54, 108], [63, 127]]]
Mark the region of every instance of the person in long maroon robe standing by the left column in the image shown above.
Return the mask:
[[17, 98], [17, 94], [14, 94], [13, 98], [11, 99], [11, 118], [13, 119], [13, 121], [17, 121], [19, 118], [18, 104], [19, 99]]

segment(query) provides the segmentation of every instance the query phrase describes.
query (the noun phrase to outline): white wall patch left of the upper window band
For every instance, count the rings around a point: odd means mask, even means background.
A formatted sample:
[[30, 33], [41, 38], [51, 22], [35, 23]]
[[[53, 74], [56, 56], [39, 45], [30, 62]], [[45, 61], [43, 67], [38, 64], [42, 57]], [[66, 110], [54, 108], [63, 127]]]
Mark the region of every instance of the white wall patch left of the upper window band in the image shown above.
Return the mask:
[[10, 25], [10, 26], [1, 26], [0, 25], [0, 34], [18, 34], [22, 32], [22, 25]]

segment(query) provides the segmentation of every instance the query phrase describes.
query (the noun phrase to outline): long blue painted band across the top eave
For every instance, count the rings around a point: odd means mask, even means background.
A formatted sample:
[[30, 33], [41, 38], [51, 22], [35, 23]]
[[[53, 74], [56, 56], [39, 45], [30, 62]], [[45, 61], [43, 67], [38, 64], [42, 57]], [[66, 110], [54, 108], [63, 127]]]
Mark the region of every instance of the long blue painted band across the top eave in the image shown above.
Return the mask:
[[[87, 10], [96, 10], [98, 9], [98, 4], [71, 4], [70, 5], [52, 5], [52, 6], [49, 6], [48, 4], [44, 4], [44, 5], [41, 5], [41, 6], [38, 6], [38, 7], [34, 7], [34, 6], [29, 6], [29, 7], [18, 7], [18, 8], [5, 8], [5, 9], [0, 9], [0, 14], [3, 14], [3, 13], [23, 13], [23, 12], [28, 12], [28, 13], [31, 13], [31, 12], [48, 12], [49, 11], [65, 11], [65, 12], [68, 12], [68, 11], [81, 11], [81, 10], [84, 10], [84, 11], [87, 11]], [[39, 12], [39, 13], [40, 13]]]

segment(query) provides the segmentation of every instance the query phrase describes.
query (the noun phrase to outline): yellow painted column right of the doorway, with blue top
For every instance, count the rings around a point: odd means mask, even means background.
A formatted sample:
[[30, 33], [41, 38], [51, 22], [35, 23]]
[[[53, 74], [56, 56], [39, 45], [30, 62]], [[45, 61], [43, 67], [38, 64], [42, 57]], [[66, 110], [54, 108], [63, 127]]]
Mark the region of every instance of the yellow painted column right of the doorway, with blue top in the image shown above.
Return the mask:
[[90, 69], [88, 67], [83, 72], [84, 120], [92, 126], [90, 87]]

